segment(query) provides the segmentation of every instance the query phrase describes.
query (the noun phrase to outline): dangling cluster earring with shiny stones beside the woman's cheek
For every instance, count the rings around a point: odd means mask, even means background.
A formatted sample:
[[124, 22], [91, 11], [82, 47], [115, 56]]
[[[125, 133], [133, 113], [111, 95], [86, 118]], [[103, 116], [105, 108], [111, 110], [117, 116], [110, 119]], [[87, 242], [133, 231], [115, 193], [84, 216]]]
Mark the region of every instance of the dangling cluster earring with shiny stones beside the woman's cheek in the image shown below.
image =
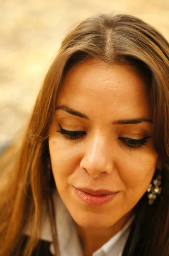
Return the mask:
[[152, 180], [152, 183], [149, 184], [147, 189], [149, 205], [154, 203], [154, 200], [157, 198], [157, 195], [161, 194], [162, 188], [159, 187], [161, 185], [161, 175], [158, 175], [155, 180]]

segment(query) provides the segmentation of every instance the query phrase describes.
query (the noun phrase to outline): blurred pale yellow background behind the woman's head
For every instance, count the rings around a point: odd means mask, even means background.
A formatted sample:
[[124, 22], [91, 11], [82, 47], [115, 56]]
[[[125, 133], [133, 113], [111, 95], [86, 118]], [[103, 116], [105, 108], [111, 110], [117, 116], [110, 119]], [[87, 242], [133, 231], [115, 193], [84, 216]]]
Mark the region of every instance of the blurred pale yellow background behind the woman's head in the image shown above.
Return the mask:
[[113, 11], [140, 17], [169, 41], [169, 0], [0, 0], [0, 154], [24, 129], [65, 35]]

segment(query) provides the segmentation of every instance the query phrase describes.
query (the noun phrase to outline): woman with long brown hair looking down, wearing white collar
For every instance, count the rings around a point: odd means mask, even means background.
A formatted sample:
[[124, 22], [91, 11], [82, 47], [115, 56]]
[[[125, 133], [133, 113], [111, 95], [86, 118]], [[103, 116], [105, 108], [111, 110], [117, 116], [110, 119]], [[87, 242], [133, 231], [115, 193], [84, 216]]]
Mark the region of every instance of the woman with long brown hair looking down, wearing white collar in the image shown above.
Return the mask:
[[169, 44], [130, 15], [83, 21], [2, 186], [0, 256], [168, 256], [168, 166]]

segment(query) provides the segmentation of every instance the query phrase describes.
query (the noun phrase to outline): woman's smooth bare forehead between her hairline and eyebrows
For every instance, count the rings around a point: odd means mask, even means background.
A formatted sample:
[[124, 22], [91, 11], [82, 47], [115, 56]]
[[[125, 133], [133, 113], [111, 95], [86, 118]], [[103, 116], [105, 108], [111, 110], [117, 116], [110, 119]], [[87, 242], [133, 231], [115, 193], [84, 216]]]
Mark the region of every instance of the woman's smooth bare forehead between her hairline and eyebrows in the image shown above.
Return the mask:
[[[79, 111], [117, 111], [151, 116], [149, 89], [131, 66], [107, 66], [96, 59], [81, 61], [65, 75], [57, 105]], [[127, 116], [126, 116], [127, 117]]]

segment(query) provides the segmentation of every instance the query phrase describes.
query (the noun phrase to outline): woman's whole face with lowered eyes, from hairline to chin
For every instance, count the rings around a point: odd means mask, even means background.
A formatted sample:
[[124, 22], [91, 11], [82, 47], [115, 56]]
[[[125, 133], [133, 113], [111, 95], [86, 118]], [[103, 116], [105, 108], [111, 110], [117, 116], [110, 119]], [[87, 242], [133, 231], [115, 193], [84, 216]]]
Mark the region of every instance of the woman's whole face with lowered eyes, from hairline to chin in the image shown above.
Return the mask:
[[66, 74], [57, 108], [49, 150], [59, 195], [79, 226], [112, 227], [157, 167], [147, 86], [133, 67], [88, 59]]

